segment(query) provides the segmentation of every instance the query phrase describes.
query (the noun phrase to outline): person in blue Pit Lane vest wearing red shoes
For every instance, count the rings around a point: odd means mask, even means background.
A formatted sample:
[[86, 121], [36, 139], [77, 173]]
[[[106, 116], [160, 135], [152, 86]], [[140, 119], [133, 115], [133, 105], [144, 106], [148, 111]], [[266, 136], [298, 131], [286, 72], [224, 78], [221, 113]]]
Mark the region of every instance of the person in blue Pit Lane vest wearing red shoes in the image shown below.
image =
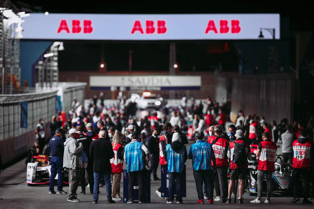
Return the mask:
[[198, 204], [204, 204], [203, 182], [205, 191], [208, 194], [208, 203], [213, 204], [213, 171], [211, 162], [213, 161], [214, 170], [216, 170], [216, 158], [211, 145], [203, 140], [202, 133], [195, 134], [196, 143], [189, 149], [188, 157], [192, 159], [193, 175], [195, 179], [196, 190], [198, 193]]

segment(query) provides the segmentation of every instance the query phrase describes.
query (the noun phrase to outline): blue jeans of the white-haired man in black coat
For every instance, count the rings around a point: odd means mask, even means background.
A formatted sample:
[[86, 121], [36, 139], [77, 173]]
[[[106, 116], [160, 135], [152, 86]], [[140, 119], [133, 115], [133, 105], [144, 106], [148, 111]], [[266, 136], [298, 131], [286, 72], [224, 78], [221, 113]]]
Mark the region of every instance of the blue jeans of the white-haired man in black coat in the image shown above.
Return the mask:
[[94, 201], [98, 201], [98, 192], [99, 192], [99, 183], [100, 183], [100, 179], [101, 177], [104, 177], [105, 180], [105, 184], [106, 184], [106, 191], [107, 191], [107, 198], [108, 200], [112, 200], [111, 197], [111, 182], [110, 182], [110, 178], [111, 178], [111, 172], [110, 171], [105, 171], [105, 172], [98, 172], [98, 171], [94, 171]]

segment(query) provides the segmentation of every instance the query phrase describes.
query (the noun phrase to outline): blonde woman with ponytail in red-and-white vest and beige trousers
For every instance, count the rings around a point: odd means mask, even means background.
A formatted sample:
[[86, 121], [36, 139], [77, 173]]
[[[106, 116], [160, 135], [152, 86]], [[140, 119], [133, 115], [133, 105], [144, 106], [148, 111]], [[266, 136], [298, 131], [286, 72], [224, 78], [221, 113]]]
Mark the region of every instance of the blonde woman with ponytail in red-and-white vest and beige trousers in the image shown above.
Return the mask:
[[112, 200], [122, 201], [123, 197], [120, 196], [120, 182], [123, 172], [123, 147], [122, 147], [122, 133], [118, 130], [112, 138], [112, 149], [115, 154], [113, 158], [110, 159], [111, 163], [111, 176], [112, 182]]

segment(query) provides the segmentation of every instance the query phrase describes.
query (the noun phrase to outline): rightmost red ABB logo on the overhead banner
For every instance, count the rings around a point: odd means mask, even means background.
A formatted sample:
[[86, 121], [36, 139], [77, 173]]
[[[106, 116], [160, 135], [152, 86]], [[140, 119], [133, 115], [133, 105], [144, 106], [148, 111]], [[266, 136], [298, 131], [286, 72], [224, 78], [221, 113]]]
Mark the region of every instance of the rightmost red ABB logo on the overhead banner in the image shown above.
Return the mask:
[[[220, 31], [219, 32], [221, 34], [226, 34], [229, 32], [230, 28], [228, 26], [227, 20], [220, 20], [219, 25], [220, 25]], [[240, 25], [239, 20], [231, 20], [231, 33], [232, 34], [240, 33], [241, 27], [239, 25]], [[208, 34], [211, 30], [214, 31], [215, 34], [218, 33], [214, 20], [208, 21], [208, 25], [207, 25], [205, 34]]]

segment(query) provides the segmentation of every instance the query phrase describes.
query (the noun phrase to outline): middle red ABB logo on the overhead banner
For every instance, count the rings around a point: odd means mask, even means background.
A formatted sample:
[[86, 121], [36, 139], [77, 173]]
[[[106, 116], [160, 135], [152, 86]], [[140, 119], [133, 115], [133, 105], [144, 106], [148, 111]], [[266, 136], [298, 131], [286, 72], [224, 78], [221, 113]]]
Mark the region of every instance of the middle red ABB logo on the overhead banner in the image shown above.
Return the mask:
[[[157, 34], [166, 33], [167, 28], [165, 27], [165, 25], [166, 25], [165, 20], [157, 20]], [[154, 27], [154, 21], [146, 20], [146, 34], [153, 34], [155, 30], [156, 28]], [[135, 20], [131, 34], [134, 34], [135, 31], [139, 31], [141, 34], [144, 33], [141, 21], [139, 20]]]

